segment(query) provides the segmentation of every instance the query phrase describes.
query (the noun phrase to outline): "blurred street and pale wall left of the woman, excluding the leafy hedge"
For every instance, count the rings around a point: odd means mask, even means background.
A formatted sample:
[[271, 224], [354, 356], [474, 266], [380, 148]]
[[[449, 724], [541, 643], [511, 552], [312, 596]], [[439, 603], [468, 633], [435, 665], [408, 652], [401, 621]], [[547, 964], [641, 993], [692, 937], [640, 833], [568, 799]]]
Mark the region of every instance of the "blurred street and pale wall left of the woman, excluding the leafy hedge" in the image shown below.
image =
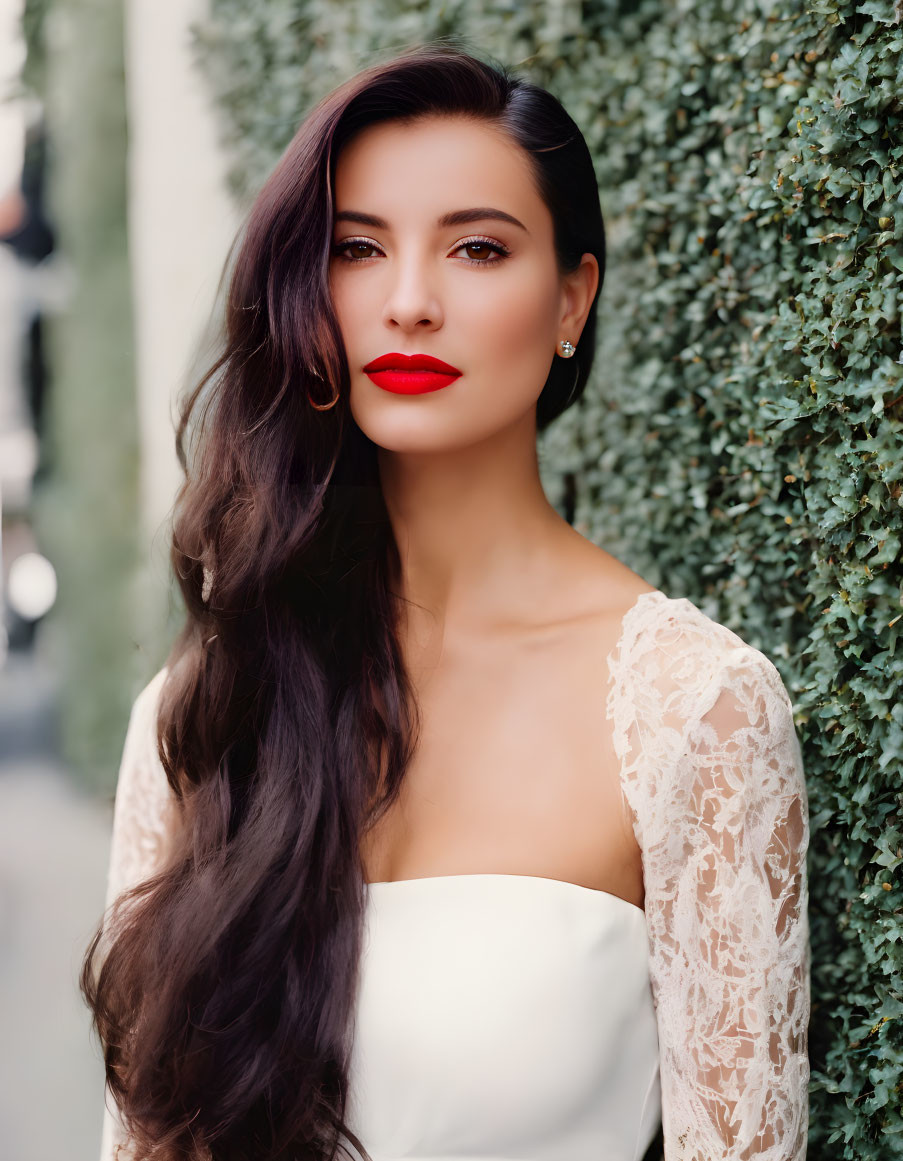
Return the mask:
[[0, 0], [0, 1156], [100, 1149], [77, 993], [174, 626], [172, 404], [238, 222], [198, 3]]

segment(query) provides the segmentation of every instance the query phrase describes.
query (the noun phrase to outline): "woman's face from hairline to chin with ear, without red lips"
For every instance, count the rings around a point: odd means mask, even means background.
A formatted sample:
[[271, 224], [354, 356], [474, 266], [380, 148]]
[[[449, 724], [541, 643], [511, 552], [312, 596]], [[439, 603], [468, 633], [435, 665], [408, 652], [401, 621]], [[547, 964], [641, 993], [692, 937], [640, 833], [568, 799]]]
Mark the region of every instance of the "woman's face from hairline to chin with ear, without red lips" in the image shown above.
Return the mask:
[[[334, 194], [330, 286], [364, 434], [395, 452], [450, 450], [535, 416], [558, 340], [580, 338], [599, 267], [585, 254], [559, 274], [520, 146], [463, 117], [374, 125], [339, 156]], [[432, 355], [461, 374], [398, 394], [363, 369], [385, 354]]]

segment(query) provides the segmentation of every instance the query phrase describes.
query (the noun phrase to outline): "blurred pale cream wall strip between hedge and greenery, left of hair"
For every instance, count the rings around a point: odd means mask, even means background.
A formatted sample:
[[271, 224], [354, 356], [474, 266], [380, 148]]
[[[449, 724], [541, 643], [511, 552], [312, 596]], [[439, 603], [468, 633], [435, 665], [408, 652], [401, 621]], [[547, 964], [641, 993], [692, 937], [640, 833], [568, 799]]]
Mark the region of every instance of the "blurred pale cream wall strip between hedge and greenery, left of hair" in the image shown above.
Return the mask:
[[166, 534], [181, 478], [175, 397], [205, 369], [211, 309], [239, 225], [239, 211], [224, 186], [212, 109], [192, 52], [190, 26], [205, 12], [205, 0], [128, 0], [125, 6], [128, 219], [140, 442], [138, 554], [150, 564], [147, 597], [154, 611], [168, 586]]

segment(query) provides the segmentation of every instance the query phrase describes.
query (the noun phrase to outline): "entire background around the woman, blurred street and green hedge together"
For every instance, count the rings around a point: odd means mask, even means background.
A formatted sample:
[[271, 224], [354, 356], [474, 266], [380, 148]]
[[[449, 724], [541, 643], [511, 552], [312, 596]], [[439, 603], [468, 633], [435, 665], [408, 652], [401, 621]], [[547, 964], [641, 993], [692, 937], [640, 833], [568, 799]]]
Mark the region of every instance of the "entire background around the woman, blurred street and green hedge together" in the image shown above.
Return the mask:
[[543, 484], [778, 665], [811, 1155], [903, 1158], [901, 0], [0, 0], [0, 1161], [99, 1155], [77, 976], [129, 709], [180, 623], [175, 403], [229, 248], [312, 104], [438, 37], [587, 139], [604, 358]]

